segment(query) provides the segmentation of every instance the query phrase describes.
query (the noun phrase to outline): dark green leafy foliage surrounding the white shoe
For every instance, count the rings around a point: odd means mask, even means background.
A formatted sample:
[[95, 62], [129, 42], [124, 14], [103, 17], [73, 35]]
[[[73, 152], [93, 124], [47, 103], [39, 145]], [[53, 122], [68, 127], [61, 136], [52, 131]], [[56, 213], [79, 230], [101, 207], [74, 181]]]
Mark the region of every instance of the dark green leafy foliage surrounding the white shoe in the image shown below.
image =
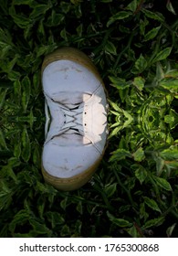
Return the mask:
[[[0, 237], [177, 237], [178, 3], [1, 0]], [[110, 101], [106, 154], [87, 185], [59, 192], [40, 171], [40, 68], [83, 50]]]

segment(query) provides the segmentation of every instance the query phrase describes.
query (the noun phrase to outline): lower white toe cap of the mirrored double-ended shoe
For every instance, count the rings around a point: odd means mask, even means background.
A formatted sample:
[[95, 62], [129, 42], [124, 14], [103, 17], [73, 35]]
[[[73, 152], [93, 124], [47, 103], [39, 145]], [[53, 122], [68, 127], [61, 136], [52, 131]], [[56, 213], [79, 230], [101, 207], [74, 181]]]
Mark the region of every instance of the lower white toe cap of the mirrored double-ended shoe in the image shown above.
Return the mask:
[[51, 176], [70, 178], [94, 166], [99, 157], [96, 147], [82, 136], [64, 134], [44, 145], [42, 165]]

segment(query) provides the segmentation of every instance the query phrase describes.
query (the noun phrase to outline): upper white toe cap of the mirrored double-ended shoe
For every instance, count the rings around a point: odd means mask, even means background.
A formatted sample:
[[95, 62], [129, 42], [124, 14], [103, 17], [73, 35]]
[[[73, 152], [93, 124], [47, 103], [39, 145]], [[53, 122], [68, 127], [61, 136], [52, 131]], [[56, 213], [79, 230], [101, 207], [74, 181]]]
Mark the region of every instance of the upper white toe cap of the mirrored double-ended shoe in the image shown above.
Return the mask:
[[81, 64], [61, 59], [47, 65], [42, 76], [44, 92], [50, 98], [60, 101], [62, 92], [85, 92], [92, 94], [100, 83], [92, 70]]

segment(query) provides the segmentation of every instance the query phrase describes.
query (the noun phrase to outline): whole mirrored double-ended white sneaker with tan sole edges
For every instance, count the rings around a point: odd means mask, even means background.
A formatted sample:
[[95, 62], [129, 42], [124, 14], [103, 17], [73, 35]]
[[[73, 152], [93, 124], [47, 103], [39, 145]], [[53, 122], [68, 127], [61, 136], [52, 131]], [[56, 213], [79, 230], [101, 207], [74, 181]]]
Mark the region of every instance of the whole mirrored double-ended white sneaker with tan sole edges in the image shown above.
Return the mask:
[[42, 85], [47, 117], [42, 173], [54, 187], [73, 190], [89, 181], [104, 154], [104, 84], [84, 53], [61, 48], [44, 60]]

